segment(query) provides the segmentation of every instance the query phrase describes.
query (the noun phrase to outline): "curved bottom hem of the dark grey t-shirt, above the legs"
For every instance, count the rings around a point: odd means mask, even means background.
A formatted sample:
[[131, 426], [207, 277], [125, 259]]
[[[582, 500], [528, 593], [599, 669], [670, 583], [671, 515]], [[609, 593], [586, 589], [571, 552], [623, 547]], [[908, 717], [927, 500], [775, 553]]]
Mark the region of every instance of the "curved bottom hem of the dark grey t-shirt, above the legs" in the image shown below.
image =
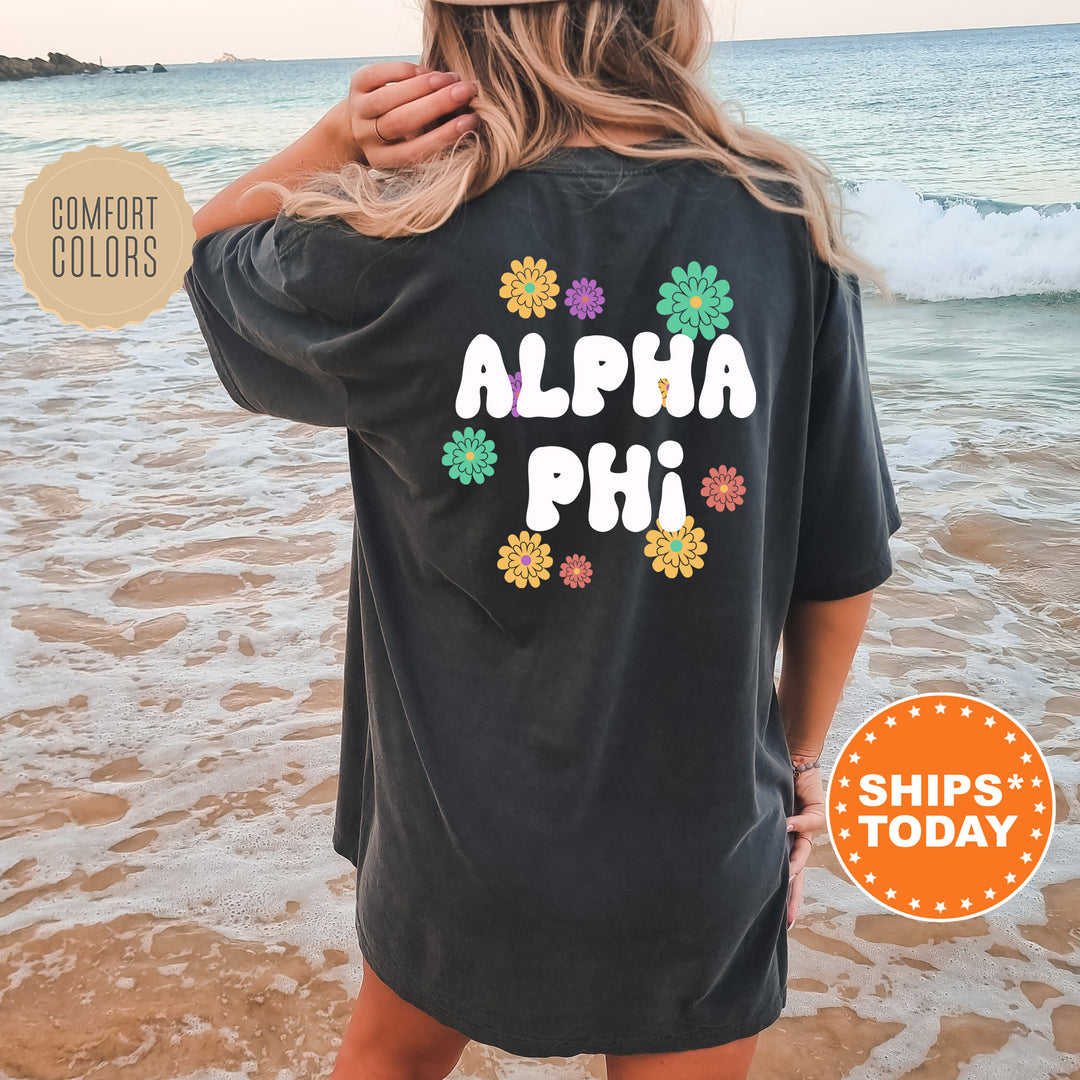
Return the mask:
[[633, 1035], [561, 1034], [557, 1036], [521, 1035], [504, 1031], [458, 1012], [454, 1004], [430, 988], [420, 989], [395, 964], [379, 955], [364, 934], [356, 916], [356, 935], [361, 953], [372, 971], [403, 1001], [427, 1013], [433, 1020], [454, 1028], [460, 1035], [487, 1047], [495, 1047], [517, 1057], [573, 1057], [578, 1054], [650, 1054], [704, 1050], [738, 1039], [750, 1038], [774, 1024], [787, 1003], [786, 986], [767, 1005], [745, 1013], [735, 1021], [708, 1027]]

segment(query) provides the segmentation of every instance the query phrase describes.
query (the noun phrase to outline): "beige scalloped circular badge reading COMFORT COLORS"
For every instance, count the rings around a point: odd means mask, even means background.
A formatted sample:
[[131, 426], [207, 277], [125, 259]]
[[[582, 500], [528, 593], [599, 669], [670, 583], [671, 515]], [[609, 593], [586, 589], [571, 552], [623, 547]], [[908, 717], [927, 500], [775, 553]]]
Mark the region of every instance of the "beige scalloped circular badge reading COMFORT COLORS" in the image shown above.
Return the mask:
[[122, 146], [87, 146], [45, 165], [15, 210], [12, 246], [26, 291], [86, 329], [120, 329], [180, 287], [193, 212], [164, 165]]

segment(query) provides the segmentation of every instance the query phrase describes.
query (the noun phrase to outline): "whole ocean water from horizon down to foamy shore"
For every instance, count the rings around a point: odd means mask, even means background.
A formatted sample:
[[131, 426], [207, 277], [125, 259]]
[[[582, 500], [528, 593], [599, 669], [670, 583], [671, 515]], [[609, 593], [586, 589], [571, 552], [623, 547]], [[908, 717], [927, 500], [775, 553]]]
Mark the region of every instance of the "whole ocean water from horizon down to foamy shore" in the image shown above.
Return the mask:
[[[836, 171], [849, 238], [900, 296], [868, 289], [865, 318], [904, 525], [826, 760], [886, 702], [956, 690], [1023, 723], [1055, 780], [1035, 880], [947, 940], [915, 922], [879, 933], [816, 849], [787, 1014], [800, 1045], [816, 1031], [834, 1047], [847, 1022], [819, 1010], [837, 1004], [880, 1035], [865, 1059], [829, 1059], [852, 1080], [916, 1068], [945, 1012], [981, 1017], [966, 1043], [978, 1071], [963, 1076], [1080, 1067], [1054, 1017], [1080, 1008], [1066, 963], [1080, 921], [1078, 55], [1080, 24], [712, 56], [714, 87], [747, 122]], [[359, 983], [352, 868], [329, 843], [343, 438], [238, 410], [183, 293], [119, 332], [59, 323], [24, 291], [10, 233], [39, 170], [91, 143], [146, 152], [198, 207], [307, 130], [364, 63], [0, 84], [0, 1004], [28, 1032], [0, 1076], [287, 1080], [325, 1064], [343, 1029], [342, 987]], [[171, 920], [189, 927], [183, 961], [151, 944]], [[212, 1023], [180, 993], [207, 983], [246, 996], [222, 997]], [[1056, 995], [1021, 989], [1037, 984]], [[35, 1018], [50, 1009], [63, 1036]], [[171, 1072], [154, 1056], [167, 1045]], [[459, 1068], [600, 1075], [480, 1050]]]

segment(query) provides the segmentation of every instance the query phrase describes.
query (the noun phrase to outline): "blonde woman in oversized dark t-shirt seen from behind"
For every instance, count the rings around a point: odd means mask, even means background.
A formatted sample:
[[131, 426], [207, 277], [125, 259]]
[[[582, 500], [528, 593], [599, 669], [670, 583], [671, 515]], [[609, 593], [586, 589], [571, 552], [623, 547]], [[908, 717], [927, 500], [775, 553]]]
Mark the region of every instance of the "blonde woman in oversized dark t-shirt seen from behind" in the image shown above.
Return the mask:
[[701, 0], [428, 0], [423, 65], [195, 216], [232, 399], [347, 432], [334, 1080], [469, 1039], [742, 1078], [784, 1008], [900, 514], [879, 279], [828, 171], [707, 91], [711, 38]]

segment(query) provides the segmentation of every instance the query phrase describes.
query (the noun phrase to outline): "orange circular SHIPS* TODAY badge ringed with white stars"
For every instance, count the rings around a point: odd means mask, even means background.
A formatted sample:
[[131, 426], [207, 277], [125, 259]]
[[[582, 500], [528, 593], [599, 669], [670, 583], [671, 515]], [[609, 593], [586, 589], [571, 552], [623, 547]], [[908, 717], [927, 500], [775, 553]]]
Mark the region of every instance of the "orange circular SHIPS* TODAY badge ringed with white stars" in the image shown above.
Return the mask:
[[843, 744], [828, 834], [860, 889], [913, 919], [1003, 904], [1035, 873], [1054, 825], [1042, 752], [980, 698], [928, 693], [875, 714]]

